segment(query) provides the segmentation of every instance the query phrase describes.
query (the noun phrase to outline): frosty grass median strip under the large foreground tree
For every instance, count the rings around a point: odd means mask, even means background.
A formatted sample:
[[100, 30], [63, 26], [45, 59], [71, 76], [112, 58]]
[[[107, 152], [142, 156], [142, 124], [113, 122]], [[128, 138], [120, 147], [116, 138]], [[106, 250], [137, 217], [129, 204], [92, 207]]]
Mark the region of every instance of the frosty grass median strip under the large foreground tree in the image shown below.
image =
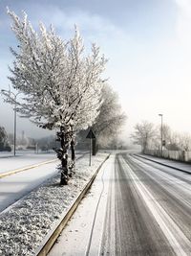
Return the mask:
[[108, 154], [98, 153], [89, 167], [89, 155], [76, 163], [68, 186], [56, 175], [0, 215], [0, 255], [34, 255], [36, 248], [78, 197]]

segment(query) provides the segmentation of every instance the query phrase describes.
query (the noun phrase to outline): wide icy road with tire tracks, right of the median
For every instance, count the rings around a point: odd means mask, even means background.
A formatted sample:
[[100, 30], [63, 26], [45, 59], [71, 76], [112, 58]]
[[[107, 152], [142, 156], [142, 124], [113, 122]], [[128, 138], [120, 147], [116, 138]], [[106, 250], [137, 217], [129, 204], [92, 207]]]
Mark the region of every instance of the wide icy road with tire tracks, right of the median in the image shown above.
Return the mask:
[[191, 255], [191, 175], [111, 156], [49, 256]]

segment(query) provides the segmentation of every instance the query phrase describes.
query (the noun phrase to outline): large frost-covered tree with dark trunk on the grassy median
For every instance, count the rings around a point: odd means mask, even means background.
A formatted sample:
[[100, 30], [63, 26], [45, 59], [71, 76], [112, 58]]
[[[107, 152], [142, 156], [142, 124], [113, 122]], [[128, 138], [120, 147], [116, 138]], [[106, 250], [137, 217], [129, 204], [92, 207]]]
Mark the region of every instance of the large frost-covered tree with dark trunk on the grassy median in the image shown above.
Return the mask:
[[[95, 44], [86, 54], [76, 28], [74, 37], [64, 41], [55, 35], [53, 26], [47, 30], [41, 23], [37, 33], [25, 12], [22, 19], [14, 12], [8, 13], [18, 39], [18, 51], [11, 49], [15, 60], [9, 78], [13, 88], [23, 95], [16, 103], [17, 111], [41, 128], [58, 129], [61, 147], [55, 151], [61, 161], [60, 183], [67, 184], [74, 167], [74, 134], [96, 119], [101, 104], [101, 74], [107, 60]], [[11, 95], [6, 96], [15, 104]]]

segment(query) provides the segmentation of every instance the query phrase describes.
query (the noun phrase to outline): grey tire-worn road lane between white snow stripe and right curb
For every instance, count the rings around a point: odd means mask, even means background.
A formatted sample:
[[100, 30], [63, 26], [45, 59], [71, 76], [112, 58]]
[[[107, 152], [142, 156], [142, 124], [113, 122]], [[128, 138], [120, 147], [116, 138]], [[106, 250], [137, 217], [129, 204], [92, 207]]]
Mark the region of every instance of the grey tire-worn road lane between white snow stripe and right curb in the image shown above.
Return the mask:
[[[191, 189], [187, 182], [181, 181], [181, 179], [170, 175], [168, 172], [165, 174], [164, 170], [160, 171], [155, 167], [151, 168], [148, 164], [140, 164], [132, 157], [125, 156], [124, 159], [134, 173], [138, 175], [138, 178], [143, 180], [147, 189], [159, 201], [165, 212], [177, 223], [180, 230], [190, 240]], [[188, 177], [190, 176], [188, 175]]]

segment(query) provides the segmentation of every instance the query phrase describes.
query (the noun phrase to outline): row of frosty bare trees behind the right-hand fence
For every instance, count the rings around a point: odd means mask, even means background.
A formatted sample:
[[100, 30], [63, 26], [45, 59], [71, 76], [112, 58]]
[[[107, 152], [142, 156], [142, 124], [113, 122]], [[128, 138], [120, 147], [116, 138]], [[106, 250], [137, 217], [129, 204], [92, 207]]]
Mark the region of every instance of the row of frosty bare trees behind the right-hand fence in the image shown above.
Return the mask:
[[[135, 144], [141, 146], [142, 151], [159, 150], [161, 147], [161, 129], [150, 122], [142, 121], [137, 124], [131, 137]], [[163, 125], [162, 138], [166, 150], [191, 151], [191, 136], [187, 133], [181, 134]]]

